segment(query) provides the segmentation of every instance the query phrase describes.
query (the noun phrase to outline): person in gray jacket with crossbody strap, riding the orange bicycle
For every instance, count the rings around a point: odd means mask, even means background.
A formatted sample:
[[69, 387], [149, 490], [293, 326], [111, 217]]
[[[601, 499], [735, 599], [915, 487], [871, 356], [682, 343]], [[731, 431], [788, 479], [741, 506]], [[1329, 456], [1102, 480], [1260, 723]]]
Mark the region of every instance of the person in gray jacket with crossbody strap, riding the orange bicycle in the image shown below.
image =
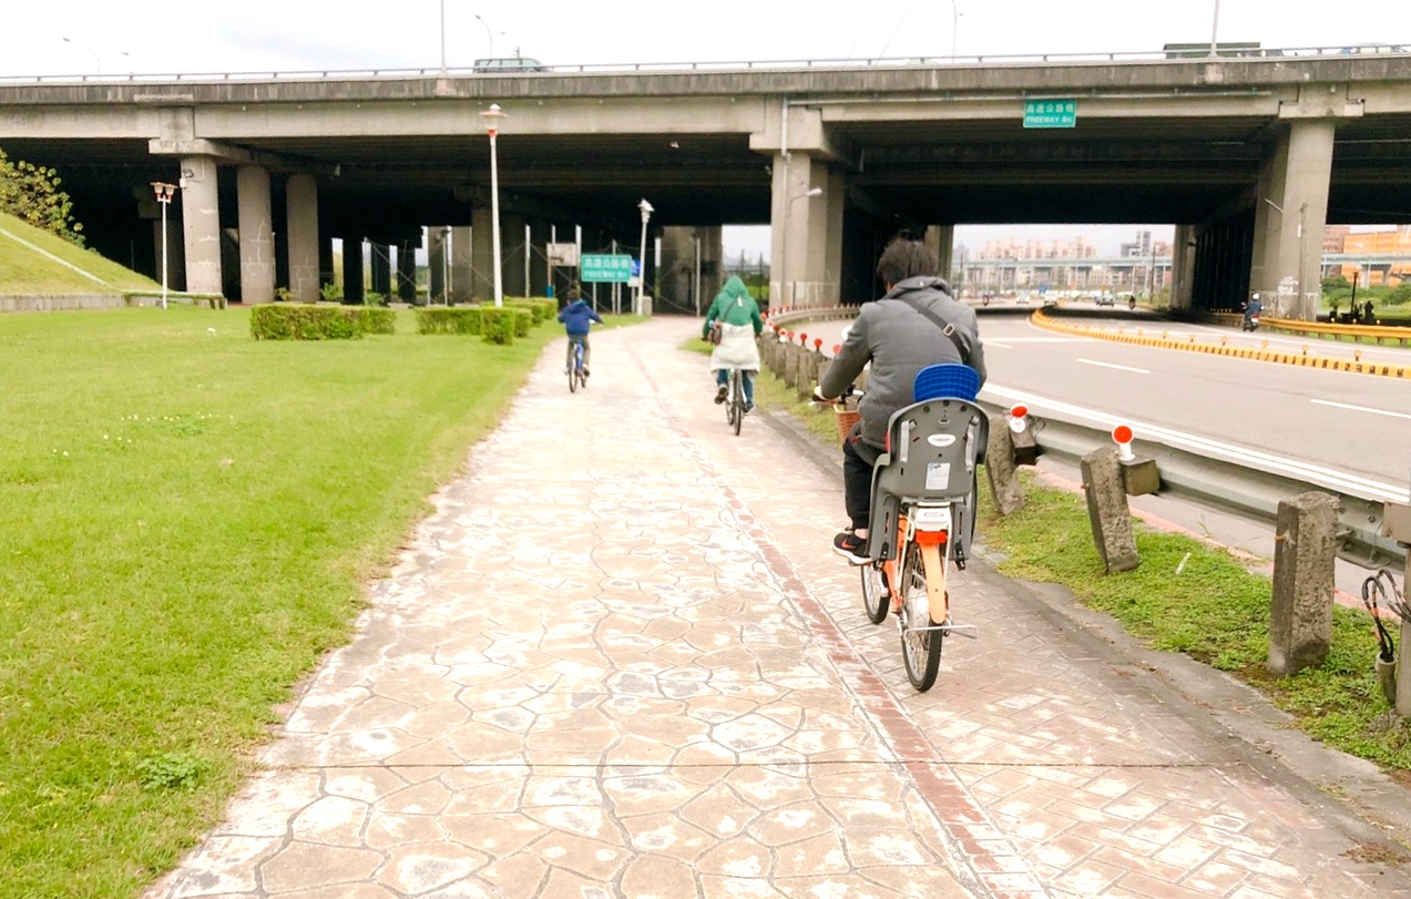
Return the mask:
[[[858, 412], [862, 421], [842, 442], [842, 485], [851, 526], [832, 541], [834, 552], [854, 565], [868, 562], [868, 512], [872, 466], [883, 452], [892, 414], [913, 402], [916, 374], [938, 363], [965, 363], [985, 384], [985, 347], [975, 310], [955, 299], [951, 285], [935, 277], [935, 254], [924, 243], [899, 237], [878, 261], [886, 295], [862, 303], [842, 349], [818, 380], [814, 399], [831, 402], [871, 363], [868, 388]], [[945, 333], [950, 326], [952, 334]]]

